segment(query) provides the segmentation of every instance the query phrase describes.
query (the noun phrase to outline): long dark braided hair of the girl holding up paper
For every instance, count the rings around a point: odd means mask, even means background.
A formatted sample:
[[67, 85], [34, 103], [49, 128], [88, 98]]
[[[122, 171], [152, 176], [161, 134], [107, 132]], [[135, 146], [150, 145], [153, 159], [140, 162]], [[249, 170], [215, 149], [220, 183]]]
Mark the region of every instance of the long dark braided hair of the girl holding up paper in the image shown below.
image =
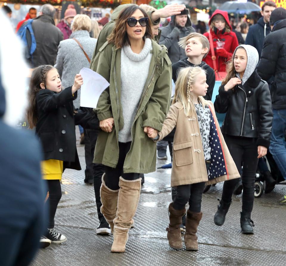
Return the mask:
[[27, 109], [29, 128], [34, 128], [37, 124], [36, 94], [42, 89], [40, 86], [41, 83], [45, 84], [46, 87], [47, 73], [53, 68], [51, 65], [43, 65], [36, 67], [32, 73], [28, 91], [29, 106]]

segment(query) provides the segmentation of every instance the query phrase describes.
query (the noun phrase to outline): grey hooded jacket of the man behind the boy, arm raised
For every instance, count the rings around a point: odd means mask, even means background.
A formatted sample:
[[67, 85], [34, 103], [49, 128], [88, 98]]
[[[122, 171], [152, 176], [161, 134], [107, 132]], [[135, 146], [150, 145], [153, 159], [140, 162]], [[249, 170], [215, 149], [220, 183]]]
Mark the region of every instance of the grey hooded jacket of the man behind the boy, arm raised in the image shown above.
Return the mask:
[[186, 26], [179, 29], [175, 26], [175, 16], [172, 16], [169, 25], [160, 29], [161, 37], [159, 44], [165, 45], [167, 47], [168, 56], [172, 64], [186, 57], [185, 50], [178, 45], [178, 40], [187, 36], [191, 32], [195, 32], [195, 29], [192, 27], [192, 21], [190, 18], [188, 17]]

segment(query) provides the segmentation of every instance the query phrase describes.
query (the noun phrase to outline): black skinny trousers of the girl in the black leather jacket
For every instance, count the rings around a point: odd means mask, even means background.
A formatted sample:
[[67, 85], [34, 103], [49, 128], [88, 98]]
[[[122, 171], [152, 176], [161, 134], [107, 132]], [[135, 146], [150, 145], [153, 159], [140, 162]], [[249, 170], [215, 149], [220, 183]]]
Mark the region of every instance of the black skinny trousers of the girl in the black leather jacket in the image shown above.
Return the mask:
[[[241, 164], [243, 164], [242, 211], [243, 213], [251, 213], [254, 202], [254, 180], [258, 164], [257, 138], [224, 135], [224, 139], [239, 172]], [[231, 202], [232, 193], [238, 180], [237, 178], [224, 182], [222, 194], [224, 202]]]

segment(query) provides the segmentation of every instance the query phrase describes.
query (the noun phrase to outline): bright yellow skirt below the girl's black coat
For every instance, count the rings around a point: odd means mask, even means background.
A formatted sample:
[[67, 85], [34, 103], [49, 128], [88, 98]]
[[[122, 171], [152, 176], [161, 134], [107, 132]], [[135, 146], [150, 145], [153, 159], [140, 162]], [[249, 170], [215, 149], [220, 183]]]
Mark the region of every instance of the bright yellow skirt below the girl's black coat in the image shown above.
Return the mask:
[[63, 161], [60, 160], [44, 160], [41, 162], [43, 179], [57, 180], [62, 179]]

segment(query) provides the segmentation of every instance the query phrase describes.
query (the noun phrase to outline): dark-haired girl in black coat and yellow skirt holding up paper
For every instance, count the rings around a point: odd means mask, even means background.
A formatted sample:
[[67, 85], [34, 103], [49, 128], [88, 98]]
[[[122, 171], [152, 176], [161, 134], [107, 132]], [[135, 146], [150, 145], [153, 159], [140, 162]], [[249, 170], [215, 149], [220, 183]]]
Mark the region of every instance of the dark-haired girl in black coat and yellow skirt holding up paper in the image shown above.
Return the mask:
[[77, 74], [74, 84], [61, 89], [60, 76], [53, 66], [35, 68], [29, 86], [30, 128], [36, 128], [43, 148], [42, 174], [49, 191], [49, 223], [45, 236], [53, 243], [63, 243], [66, 237], [54, 229], [57, 204], [61, 198], [60, 180], [65, 168], [81, 170], [77, 155], [75, 124], [99, 129], [97, 117], [83, 111], [74, 112], [72, 101], [83, 84]]

